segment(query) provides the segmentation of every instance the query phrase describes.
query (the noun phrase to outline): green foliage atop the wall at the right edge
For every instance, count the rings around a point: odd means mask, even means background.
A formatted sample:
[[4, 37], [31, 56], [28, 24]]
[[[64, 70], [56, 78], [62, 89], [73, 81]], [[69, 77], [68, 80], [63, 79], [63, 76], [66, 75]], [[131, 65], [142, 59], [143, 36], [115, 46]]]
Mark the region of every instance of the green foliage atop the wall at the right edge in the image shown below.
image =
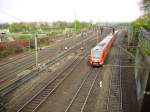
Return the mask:
[[[138, 18], [137, 20], [133, 21], [131, 23], [132, 29], [133, 29], [133, 36], [135, 38], [138, 38], [139, 44], [143, 47], [144, 52], [147, 55], [150, 55], [150, 40], [144, 38], [142, 34], [140, 34], [140, 28], [143, 27], [147, 32], [150, 32], [150, 10], [148, 7], [150, 7], [147, 0], [143, 1], [143, 9], [144, 9], [144, 15]], [[146, 7], [144, 7], [146, 6]]]

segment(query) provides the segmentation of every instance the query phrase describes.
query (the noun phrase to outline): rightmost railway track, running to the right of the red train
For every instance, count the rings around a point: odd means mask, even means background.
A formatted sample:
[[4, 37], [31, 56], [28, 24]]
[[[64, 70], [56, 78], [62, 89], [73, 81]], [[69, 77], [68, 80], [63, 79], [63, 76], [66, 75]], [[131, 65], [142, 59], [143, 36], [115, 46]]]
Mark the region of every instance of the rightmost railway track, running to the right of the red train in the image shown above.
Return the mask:
[[[117, 56], [113, 56], [113, 64], [115, 65], [120, 65], [119, 54], [120, 52]], [[111, 66], [108, 97], [106, 98], [106, 104], [104, 104], [104, 112], [123, 112], [121, 83], [121, 66]]]

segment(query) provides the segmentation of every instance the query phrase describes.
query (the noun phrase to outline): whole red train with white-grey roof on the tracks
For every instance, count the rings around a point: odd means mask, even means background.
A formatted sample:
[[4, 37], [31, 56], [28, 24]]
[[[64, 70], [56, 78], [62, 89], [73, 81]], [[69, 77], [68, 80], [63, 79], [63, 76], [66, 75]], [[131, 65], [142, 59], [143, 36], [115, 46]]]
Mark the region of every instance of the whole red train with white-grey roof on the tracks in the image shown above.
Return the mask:
[[105, 58], [110, 51], [110, 48], [117, 38], [118, 31], [106, 36], [100, 43], [91, 49], [89, 61], [92, 66], [101, 66], [104, 64]]

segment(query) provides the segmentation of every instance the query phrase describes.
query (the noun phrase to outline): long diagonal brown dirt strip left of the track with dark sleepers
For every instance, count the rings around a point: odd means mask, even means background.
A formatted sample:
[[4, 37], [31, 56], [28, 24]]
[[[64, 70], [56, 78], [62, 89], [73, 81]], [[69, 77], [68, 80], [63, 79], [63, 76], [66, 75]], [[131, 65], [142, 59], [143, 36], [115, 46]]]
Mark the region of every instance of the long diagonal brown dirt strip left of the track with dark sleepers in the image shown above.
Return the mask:
[[[96, 42], [96, 41], [93, 41], [93, 42]], [[88, 45], [89, 47], [92, 46], [92, 44], [88, 44]], [[36, 94], [45, 84], [48, 83], [49, 80], [53, 79], [53, 77], [55, 76], [55, 72], [58, 72], [64, 69], [65, 66], [70, 63], [70, 61], [78, 57], [78, 55], [81, 52], [85, 52], [87, 48], [88, 47], [86, 47], [86, 44], [85, 44], [84, 50], [79, 49], [73, 52], [72, 54], [65, 57], [58, 63], [47, 68], [42, 73], [39, 73], [32, 80], [29, 80], [24, 85], [18, 87], [15, 91], [6, 95], [3, 99], [4, 99], [5, 107], [7, 108], [8, 112], [16, 112], [20, 106], [22, 106], [34, 94]]]

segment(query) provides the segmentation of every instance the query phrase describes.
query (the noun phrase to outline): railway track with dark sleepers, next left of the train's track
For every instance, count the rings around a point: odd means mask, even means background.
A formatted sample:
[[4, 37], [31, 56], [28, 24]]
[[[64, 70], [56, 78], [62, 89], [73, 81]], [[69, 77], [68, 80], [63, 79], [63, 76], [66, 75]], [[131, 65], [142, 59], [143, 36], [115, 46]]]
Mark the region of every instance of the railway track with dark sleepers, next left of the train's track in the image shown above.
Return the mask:
[[63, 83], [63, 81], [74, 71], [74, 69], [84, 59], [77, 58], [72, 64], [67, 66], [63, 71], [58, 73], [43, 89], [25, 103], [17, 112], [34, 112], [41, 104]]

